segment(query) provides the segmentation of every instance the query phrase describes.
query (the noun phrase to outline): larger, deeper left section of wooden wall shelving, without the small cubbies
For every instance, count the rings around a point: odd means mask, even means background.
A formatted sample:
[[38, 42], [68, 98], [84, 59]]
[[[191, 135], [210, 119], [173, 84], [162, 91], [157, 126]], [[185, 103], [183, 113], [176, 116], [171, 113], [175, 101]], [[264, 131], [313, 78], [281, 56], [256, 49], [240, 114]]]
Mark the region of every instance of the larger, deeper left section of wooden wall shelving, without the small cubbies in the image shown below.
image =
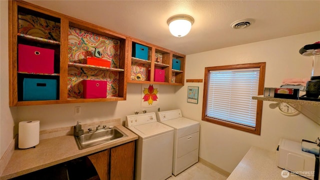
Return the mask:
[[[115, 101], [126, 99], [126, 62], [127, 62], [127, 43], [126, 36], [115, 31], [91, 24], [80, 19], [76, 19], [50, 9], [46, 9], [29, 2], [12, 0], [9, 4], [9, 105], [37, 105], [37, 104], [55, 104], [55, 103], [74, 103], [74, 102], [96, 102], [96, 101]], [[20, 18], [22, 18], [20, 20]], [[29, 26], [23, 23], [32, 23], [32, 20], [27, 21], [23, 18], [37, 19], [43, 21], [42, 24], [32, 24], [34, 30], [27, 29]], [[33, 21], [36, 23], [36, 20]], [[43, 23], [46, 26], [43, 25]], [[30, 25], [30, 26], [32, 26]], [[46, 28], [50, 27], [50, 28]], [[43, 28], [43, 29], [41, 29]], [[82, 31], [95, 34], [101, 38], [111, 39], [110, 41], [118, 42], [115, 44], [116, 56], [111, 57], [111, 67], [102, 67], [87, 65], [77, 61], [70, 60], [73, 54], [70, 54], [72, 49], [72, 42], [70, 40], [70, 28], [78, 28]], [[41, 36], [41, 33], [32, 33], [32, 31], [46, 32], [47, 36]], [[52, 30], [50, 32], [50, 30]], [[40, 34], [40, 35], [39, 35]], [[55, 39], [54, 39], [55, 38]], [[18, 71], [18, 51], [17, 44], [22, 43], [26, 45], [39, 46], [44, 48], [54, 49], [54, 73], [41, 74], [41, 73], [28, 73]], [[86, 44], [87, 45], [87, 44]], [[109, 45], [109, 44], [106, 44]], [[113, 45], [113, 44], [111, 44]], [[106, 47], [106, 46], [104, 46]], [[91, 46], [87, 45], [88, 51], [92, 50]], [[103, 47], [102, 47], [103, 48]], [[72, 49], [74, 50], [74, 49]], [[79, 53], [79, 51], [77, 51]], [[105, 55], [105, 54], [104, 54]], [[112, 54], [114, 55], [114, 54]], [[70, 72], [70, 68], [72, 72]], [[77, 69], [78, 73], [84, 74], [82, 76], [72, 76], [74, 70]], [[96, 71], [104, 73], [101, 76], [94, 76], [89, 72]], [[85, 74], [87, 73], [87, 74]], [[23, 100], [23, 84], [22, 80], [25, 77], [32, 78], [54, 78], [57, 81], [57, 98], [55, 100]], [[107, 98], [93, 98], [85, 99], [81, 97], [80, 78], [93, 78], [107, 80], [109, 82], [109, 94]], [[108, 79], [111, 77], [112, 79]], [[77, 85], [76, 87], [72, 87]], [[72, 94], [76, 89], [76, 95]], [[111, 92], [112, 91], [112, 92]]]

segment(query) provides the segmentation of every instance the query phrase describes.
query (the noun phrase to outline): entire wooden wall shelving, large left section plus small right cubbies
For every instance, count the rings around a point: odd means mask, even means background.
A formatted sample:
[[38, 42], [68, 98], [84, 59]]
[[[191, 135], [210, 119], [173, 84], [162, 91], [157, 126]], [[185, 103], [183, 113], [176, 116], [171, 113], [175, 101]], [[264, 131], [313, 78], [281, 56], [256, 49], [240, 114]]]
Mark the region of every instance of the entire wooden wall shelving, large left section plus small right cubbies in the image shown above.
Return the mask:
[[[10, 0], [9, 5], [9, 105], [39, 105], [39, 104], [55, 104], [55, 103], [74, 103], [74, 102], [96, 102], [96, 101], [114, 101], [126, 99], [126, 83], [151, 83], [166, 85], [183, 85], [184, 84], [184, 65], [185, 55], [174, 52], [169, 49], [159, 47], [157, 45], [135, 39], [133, 37], [103, 28], [101, 26], [73, 18], [71, 16], [52, 11], [22, 0]], [[21, 16], [25, 18], [37, 20], [19, 21]], [[24, 25], [23, 23], [37, 23]], [[46, 24], [48, 23], [48, 24]], [[45, 24], [45, 25], [43, 25]], [[25, 30], [29, 27], [37, 29]], [[50, 28], [48, 28], [50, 27]], [[42, 28], [42, 29], [41, 29]], [[74, 41], [81, 35], [70, 34], [72, 30], [79, 29], [79, 32], [92, 34], [99, 38], [109, 39], [110, 43], [102, 48], [107, 52], [108, 46], [116, 46], [112, 49], [111, 54], [107, 54], [106, 58], [111, 61], [110, 67], [87, 65], [83, 59], [78, 58], [79, 54], [91, 56], [88, 52], [92, 52], [95, 45], [87, 45], [86, 52], [81, 52], [78, 46], [72, 46]], [[39, 33], [32, 33], [31, 31]], [[41, 35], [42, 32], [48, 32]], [[77, 36], [79, 35], [79, 36]], [[90, 35], [89, 35], [90, 36]], [[80, 37], [82, 38], [82, 37]], [[87, 38], [87, 37], [85, 37]], [[89, 38], [89, 37], [88, 37]], [[82, 38], [83, 39], [83, 38]], [[85, 39], [84, 39], [85, 40]], [[91, 39], [92, 40], [92, 39]], [[82, 43], [81, 41], [79, 41]], [[138, 59], [131, 56], [132, 42], [140, 43], [148, 47], [149, 59]], [[18, 50], [19, 43], [54, 49], [54, 72], [51, 74], [27, 73], [18, 71]], [[115, 44], [112, 44], [115, 43]], [[82, 44], [80, 44], [82, 45]], [[73, 53], [73, 51], [77, 52]], [[114, 55], [115, 54], [115, 55]], [[103, 55], [103, 54], [102, 54]], [[111, 57], [112, 56], [112, 57]], [[83, 57], [84, 58], [84, 57]], [[109, 59], [108, 59], [109, 58]], [[172, 58], [181, 61], [180, 70], [172, 69]], [[143, 80], [132, 79], [132, 66], [138, 64], [145, 68]], [[165, 81], [154, 81], [154, 69], [165, 70]], [[150, 80], [147, 80], [147, 70], [150, 69]], [[134, 70], [133, 70], [134, 71]], [[76, 74], [77, 73], [77, 74]], [[84, 75], [83, 75], [84, 73]], [[93, 74], [93, 75], [92, 75]], [[103, 75], [97, 75], [103, 74]], [[82, 75], [82, 76], [81, 76]], [[23, 100], [23, 78], [31, 76], [32, 78], [53, 78], [57, 81], [55, 100]], [[101, 79], [107, 83], [107, 98], [84, 99], [81, 96], [82, 79]]]

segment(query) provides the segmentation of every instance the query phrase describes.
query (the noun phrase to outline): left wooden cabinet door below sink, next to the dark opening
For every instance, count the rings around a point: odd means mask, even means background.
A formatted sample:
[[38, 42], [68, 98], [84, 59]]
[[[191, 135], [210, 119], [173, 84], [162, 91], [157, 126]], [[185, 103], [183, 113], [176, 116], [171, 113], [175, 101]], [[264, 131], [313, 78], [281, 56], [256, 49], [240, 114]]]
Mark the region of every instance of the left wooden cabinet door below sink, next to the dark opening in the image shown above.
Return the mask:
[[88, 155], [88, 158], [95, 167], [96, 172], [98, 173], [100, 180], [109, 180], [109, 156], [110, 149], [106, 149], [94, 154]]

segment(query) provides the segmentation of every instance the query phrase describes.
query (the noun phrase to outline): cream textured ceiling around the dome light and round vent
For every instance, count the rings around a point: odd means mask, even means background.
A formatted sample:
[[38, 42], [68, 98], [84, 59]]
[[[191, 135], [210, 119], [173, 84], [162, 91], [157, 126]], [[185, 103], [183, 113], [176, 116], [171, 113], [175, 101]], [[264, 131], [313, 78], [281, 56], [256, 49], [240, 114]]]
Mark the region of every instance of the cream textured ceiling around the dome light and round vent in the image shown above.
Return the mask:
[[[320, 0], [26, 1], [183, 54], [320, 30]], [[191, 15], [194, 23], [186, 36], [174, 37], [166, 20], [180, 13]], [[255, 22], [230, 27], [244, 18]], [[320, 34], [314, 42], [319, 40]]]

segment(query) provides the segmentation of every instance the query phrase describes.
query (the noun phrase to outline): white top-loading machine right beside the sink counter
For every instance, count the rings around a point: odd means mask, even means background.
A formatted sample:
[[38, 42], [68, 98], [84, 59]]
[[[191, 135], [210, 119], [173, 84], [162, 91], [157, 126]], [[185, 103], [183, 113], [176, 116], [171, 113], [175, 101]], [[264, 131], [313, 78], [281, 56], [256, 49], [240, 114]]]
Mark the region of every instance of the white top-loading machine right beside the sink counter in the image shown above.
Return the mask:
[[135, 143], [134, 178], [160, 180], [170, 177], [173, 128], [157, 122], [155, 112], [127, 115], [125, 126], [139, 137]]

